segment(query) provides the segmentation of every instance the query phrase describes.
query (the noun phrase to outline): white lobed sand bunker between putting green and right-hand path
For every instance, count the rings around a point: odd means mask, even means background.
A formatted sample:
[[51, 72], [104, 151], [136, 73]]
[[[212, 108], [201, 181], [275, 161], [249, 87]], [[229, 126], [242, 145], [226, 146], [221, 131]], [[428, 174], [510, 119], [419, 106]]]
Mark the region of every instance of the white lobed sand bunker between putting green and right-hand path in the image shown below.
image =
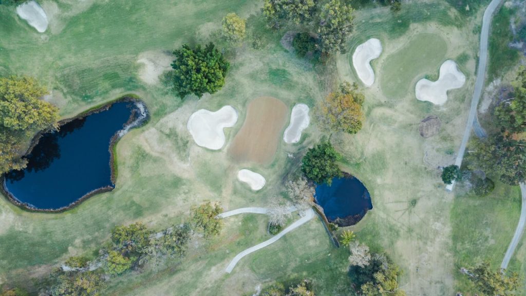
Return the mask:
[[429, 101], [442, 105], [448, 101], [448, 91], [460, 88], [466, 83], [466, 76], [457, 68], [457, 63], [447, 60], [440, 66], [440, 77], [437, 81], [421, 79], [417, 82], [415, 92], [419, 101]]

